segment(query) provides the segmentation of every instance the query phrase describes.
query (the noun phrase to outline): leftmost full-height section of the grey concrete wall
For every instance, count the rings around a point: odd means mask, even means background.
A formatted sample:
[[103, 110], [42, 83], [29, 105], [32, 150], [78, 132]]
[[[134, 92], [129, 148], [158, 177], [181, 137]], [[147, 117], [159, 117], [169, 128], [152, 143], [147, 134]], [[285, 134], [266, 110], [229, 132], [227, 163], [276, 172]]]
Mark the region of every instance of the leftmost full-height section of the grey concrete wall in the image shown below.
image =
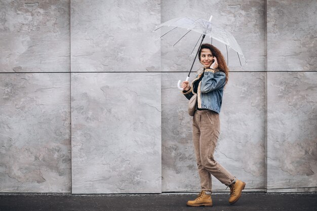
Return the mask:
[[0, 1], [0, 191], [70, 192], [69, 1]]

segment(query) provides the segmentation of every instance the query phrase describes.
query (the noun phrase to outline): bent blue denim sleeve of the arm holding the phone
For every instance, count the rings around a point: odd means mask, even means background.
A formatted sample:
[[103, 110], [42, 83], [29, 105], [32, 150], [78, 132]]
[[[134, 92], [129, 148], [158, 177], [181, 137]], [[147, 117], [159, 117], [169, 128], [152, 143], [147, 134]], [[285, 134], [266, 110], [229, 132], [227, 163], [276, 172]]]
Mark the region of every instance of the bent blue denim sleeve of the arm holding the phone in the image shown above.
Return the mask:
[[211, 69], [206, 69], [201, 83], [201, 93], [208, 93], [217, 90], [225, 85], [226, 74], [224, 72], [214, 73]]

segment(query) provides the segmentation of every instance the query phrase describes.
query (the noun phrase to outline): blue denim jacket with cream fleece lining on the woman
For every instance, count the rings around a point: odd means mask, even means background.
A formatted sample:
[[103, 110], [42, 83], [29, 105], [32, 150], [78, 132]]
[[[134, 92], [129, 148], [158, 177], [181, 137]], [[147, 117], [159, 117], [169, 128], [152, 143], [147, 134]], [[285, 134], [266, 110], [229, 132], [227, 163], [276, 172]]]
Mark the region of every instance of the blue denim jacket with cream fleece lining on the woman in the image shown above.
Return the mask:
[[197, 107], [207, 108], [220, 113], [223, 89], [226, 80], [226, 74], [224, 72], [216, 69], [215, 73], [213, 73], [211, 69], [205, 69], [204, 72], [197, 75], [191, 82], [190, 90], [188, 92], [183, 91], [183, 94], [189, 100], [195, 94], [193, 91], [194, 81], [202, 77], [203, 74], [204, 77], [202, 81], [199, 82], [197, 89]]

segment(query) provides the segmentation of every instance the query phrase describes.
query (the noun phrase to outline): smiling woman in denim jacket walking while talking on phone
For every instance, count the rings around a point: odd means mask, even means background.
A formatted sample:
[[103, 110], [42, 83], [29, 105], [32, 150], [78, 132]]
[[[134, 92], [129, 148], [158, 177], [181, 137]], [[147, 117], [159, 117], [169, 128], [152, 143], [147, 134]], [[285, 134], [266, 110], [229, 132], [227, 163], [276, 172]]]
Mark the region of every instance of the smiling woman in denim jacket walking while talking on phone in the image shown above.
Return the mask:
[[182, 93], [190, 99], [197, 93], [197, 108], [192, 119], [192, 137], [201, 179], [202, 191], [188, 206], [212, 206], [211, 175], [230, 187], [229, 203], [241, 196], [246, 183], [235, 179], [214, 159], [214, 151], [220, 133], [219, 113], [224, 87], [228, 81], [228, 67], [221, 52], [210, 44], [203, 44], [198, 58], [204, 69], [192, 81], [182, 82]]

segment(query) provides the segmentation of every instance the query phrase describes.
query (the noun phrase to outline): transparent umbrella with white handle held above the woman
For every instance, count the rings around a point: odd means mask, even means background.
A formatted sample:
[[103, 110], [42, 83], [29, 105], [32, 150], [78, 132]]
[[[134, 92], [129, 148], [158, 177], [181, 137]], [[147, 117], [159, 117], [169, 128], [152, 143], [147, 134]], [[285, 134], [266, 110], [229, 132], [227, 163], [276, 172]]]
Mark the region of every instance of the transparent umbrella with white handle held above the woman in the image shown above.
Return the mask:
[[[220, 43], [223, 43], [226, 46], [227, 63], [228, 63], [228, 48], [229, 48], [229, 49], [232, 49], [232, 50], [234, 50], [236, 52], [237, 57], [239, 58], [239, 61], [240, 61], [240, 65], [242, 66], [240, 55], [243, 58], [244, 58], [244, 55], [242, 53], [242, 50], [241, 50], [239, 44], [237, 44], [235, 38], [233, 37], [233, 35], [230, 32], [228, 32], [227, 30], [225, 30], [222, 27], [218, 27], [215, 24], [213, 24], [211, 22], [211, 19], [212, 19], [212, 16], [210, 16], [209, 20], [202, 19], [202, 18], [194, 18], [194, 17], [174, 18], [174, 19], [171, 19], [169, 21], [166, 21], [166, 22], [156, 26], [156, 29], [154, 31], [156, 31], [157, 29], [160, 29], [160, 28], [162, 28], [164, 26], [168, 26], [168, 27], [172, 26], [173, 28], [171, 30], [169, 30], [168, 32], [166, 32], [165, 34], [163, 34], [161, 36], [161, 37], [163, 37], [163, 36], [165, 36], [166, 34], [170, 33], [171, 31], [173, 31], [176, 28], [186, 28], [188, 31], [180, 39], [178, 39], [177, 42], [173, 46], [175, 46], [190, 31], [199, 32], [201, 34], [199, 40], [202, 37], [200, 46], [202, 45], [205, 36], [209, 36], [211, 39], [216, 39]], [[197, 43], [196, 43], [195, 47], [199, 43], [199, 40], [197, 40]], [[193, 48], [193, 50], [195, 49], [195, 47]], [[196, 59], [196, 57], [198, 55], [198, 52], [199, 52], [199, 49], [197, 50], [196, 56], [194, 58], [194, 61], [193, 61], [192, 65], [191, 65], [191, 67], [190, 67], [188, 76], [186, 77], [186, 81], [188, 81], [188, 79], [189, 79], [189, 75], [190, 75], [191, 69], [192, 69], [192, 67], [194, 65], [195, 59]], [[181, 83], [181, 80], [178, 81], [177, 86], [178, 86], [178, 88], [180, 90], [182, 90], [182, 88], [180, 87], [180, 83]]]

